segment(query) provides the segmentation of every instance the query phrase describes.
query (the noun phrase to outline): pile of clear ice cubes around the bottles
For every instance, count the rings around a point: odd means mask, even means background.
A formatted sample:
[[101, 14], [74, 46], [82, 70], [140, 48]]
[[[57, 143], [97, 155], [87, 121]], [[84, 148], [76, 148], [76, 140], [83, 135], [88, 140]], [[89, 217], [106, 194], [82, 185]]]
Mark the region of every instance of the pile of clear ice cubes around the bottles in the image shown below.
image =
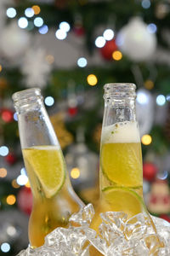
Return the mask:
[[18, 256], [88, 256], [90, 246], [105, 256], [170, 255], [170, 224], [161, 218], [153, 218], [156, 234], [143, 213], [128, 220], [124, 212], [101, 213], [99, 235], [89, 228], [93, 218], [94, 207], [88, 204], [71, 216], [68, 229], [57, 228], [45, 237], [42, 247], [28, 247]]

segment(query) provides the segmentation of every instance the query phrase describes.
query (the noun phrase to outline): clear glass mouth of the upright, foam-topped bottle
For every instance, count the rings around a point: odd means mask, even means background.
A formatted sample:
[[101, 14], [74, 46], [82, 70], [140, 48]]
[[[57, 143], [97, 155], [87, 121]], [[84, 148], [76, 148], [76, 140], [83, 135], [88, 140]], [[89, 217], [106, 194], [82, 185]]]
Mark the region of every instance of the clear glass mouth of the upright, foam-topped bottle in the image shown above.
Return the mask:
[[136, 85], [133, 83], [111, 83], [105, 84], [105, 99], [111, 99], [111, 97], [136, 97]]

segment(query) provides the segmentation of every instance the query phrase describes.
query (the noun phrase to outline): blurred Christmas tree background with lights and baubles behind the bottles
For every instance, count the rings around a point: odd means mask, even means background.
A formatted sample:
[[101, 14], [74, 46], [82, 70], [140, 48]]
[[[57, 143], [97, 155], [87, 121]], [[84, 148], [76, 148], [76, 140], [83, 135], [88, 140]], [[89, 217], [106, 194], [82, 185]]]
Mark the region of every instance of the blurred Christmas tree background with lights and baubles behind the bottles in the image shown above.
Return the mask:
[[169, 69], [169, 0], [0, 0], [0, 255], [28, 245], [32, 197], [11, 96], [31, 87], [88, 203], [99, 195], [103, 85], [137, 84], [144, 200], [170, 221]]

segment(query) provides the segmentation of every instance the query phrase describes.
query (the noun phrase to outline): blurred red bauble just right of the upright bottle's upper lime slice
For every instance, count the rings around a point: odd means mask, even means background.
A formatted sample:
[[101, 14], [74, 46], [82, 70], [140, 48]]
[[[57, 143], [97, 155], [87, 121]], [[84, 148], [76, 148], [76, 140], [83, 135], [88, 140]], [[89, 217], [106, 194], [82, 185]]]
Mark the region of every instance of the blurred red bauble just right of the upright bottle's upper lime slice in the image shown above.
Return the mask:
[[145, 180], [151, 182], [155, 179], [156, 177], [156, 172], [157, 172], [157, 167], [150, 163], [150, 162], [145, 162], [143, 166], [143, 177]]

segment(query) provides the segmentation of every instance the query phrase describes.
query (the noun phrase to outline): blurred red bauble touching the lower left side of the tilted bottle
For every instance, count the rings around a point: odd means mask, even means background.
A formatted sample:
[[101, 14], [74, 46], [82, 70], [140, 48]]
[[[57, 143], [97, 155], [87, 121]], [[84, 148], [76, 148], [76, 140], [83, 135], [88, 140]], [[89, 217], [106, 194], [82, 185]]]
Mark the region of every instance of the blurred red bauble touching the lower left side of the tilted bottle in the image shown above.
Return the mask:
[[20, 189], [20, 192], [17, 196], [17, 203], [20, 210], [30, 215], [31, 209], [32, 209], [32, 202], [33, 202], [33, 197], [31, 194], [31, 189], [26, 187], [23, 187], [22, 189]]

